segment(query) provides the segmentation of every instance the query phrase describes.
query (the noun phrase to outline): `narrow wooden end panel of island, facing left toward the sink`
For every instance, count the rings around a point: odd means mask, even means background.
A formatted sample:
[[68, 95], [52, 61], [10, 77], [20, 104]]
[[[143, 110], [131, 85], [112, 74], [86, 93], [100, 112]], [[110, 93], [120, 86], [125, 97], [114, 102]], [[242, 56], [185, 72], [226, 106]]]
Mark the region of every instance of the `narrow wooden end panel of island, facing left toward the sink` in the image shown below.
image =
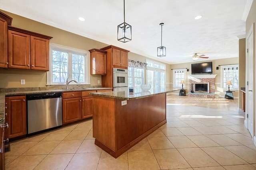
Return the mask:
[[115, 99], [93, 96], [93, 137], [116, 150]]

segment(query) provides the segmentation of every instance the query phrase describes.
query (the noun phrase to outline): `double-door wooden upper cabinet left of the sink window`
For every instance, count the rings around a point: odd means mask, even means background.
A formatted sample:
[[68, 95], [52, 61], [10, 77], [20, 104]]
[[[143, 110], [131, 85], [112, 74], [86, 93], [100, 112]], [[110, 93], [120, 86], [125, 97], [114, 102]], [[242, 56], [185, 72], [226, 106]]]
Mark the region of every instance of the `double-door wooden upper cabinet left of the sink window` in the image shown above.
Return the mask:
[[51, 38], [8, 26], [8, 68], [48, 71]]

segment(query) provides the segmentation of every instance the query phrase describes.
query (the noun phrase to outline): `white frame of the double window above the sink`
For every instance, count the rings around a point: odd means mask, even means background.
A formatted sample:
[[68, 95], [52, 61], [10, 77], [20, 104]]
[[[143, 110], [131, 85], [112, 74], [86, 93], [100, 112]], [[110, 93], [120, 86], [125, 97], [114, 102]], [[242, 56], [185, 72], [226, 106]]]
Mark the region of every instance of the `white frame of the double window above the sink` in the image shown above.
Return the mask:
[[[49, 71], [46, 74], [46, 85], [64, 85], [66, 82], [52, 82], [52, 50], [60, 50], [63, 52], [71, 53], [71, 54], [78, 54], [78, 55], [84, 55], [84, 81], [80, 82], [78, 84], [90, 84], [90, 52], [80, 49], [75, 49], [72, 47], [67, 47], [64, 45], [58, 45], [54, 43], [50, 43], [49, 48]], [[70, 56], [68, 56], [68, 68], [72, 68], [72, 59], [70, 59]], [[72, 71], [69, 72], [68, 70], [68, 80], [72, 80]], [[70, 84], [76, 84], [75, 82], [70, 82]]]

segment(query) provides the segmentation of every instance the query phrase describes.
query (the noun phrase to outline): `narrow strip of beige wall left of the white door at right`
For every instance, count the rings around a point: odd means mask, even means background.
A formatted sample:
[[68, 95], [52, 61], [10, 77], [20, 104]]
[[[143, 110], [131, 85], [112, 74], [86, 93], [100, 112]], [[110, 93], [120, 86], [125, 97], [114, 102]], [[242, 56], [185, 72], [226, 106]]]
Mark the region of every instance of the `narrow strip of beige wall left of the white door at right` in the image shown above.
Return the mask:
[[[245, 38], [239, 39], [239, 89], [245, 87]], [[242, 92], [239, 92], [240, 94]], [[241, 95], [239, 95], [239, 108], [241, 106]]]

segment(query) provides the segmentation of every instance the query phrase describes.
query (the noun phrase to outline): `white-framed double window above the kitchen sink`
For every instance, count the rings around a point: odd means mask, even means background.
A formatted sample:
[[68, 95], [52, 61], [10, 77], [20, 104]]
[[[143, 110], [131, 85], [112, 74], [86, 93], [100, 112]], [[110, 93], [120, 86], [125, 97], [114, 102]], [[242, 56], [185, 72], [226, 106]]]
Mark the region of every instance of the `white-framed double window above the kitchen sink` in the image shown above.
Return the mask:
[[47, 84], [65, 84], [76, 80], [79, 84], [90, 84], [89, 52], [50, 43], [50, 71]]

